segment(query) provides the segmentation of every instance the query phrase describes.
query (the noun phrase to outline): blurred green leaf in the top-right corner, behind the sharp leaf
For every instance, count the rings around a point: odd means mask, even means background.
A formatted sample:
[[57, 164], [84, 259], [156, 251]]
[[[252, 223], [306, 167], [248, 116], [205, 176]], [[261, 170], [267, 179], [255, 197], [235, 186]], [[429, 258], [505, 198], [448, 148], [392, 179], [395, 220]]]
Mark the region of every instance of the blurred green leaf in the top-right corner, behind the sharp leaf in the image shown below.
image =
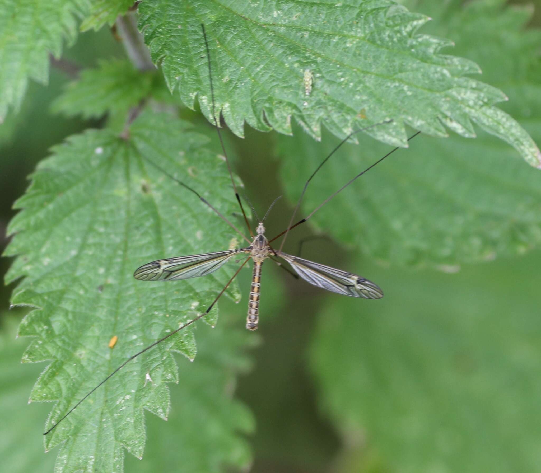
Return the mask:
[[[503, 104], [539, 142], [541, 111], [541, 30], [526, 29], [532, 17], [529, 7], [506, 6], [505, 0], [422, 2], [433, 10], [428, 29], [456, 37], [456, 51], [483, 67], [490, 84], [504, 90], [510, 101]], [[482, 37], [483, 41], [479, 41]]]

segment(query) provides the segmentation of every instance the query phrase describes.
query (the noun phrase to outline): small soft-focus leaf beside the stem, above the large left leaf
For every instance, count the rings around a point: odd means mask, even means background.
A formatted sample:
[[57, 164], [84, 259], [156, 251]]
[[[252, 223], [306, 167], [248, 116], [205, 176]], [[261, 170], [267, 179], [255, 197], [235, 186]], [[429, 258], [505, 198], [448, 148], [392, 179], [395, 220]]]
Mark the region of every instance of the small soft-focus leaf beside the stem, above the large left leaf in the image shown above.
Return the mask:
[[125, 115], [160, 84], [155, 72], [138, 71], [126, 60], [101, 61], [97, 68], [84, 70], [77, 81], [68, 83], [51, 109], [84, 118], [98, 118], [111, 110]]

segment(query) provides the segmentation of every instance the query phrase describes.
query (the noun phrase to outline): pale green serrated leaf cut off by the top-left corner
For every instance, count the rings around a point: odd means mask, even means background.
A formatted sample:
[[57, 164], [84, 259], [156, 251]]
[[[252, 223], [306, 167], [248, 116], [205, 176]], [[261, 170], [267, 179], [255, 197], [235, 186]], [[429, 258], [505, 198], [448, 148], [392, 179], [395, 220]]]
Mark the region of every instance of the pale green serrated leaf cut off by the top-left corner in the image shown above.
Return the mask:
[[45, 84], [49, 54], [60, 57], [62, 42], [77, 36], [76, 17], [87, 0], [3, 0], [0, 2], [0, 123], [18, 111], [32, 79]]

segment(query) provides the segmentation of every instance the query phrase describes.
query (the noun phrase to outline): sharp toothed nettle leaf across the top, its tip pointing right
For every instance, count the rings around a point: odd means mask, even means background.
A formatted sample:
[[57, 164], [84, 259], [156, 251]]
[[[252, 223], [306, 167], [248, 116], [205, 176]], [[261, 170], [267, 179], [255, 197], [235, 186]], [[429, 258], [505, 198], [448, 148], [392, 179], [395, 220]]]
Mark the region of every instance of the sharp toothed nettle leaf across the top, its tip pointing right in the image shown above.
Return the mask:
[[[452, 43], [418, 28], [428, 17], [385, 0], [349, 3], [143, 2], [140, 26], [171, 90], [210, 118], [201, 23], [206, 23], [216, 110], [239, 136], [243, 123], [291, 134], [291, 117], [315, 138], [321, 124], [344, 137], [366, 133], [405, 145], [405, 124], [434, 136], [473, 137], [473, 123], [511, 143], [531, 165], [536, 144], [494, 104], [506, 99], [469, 77], [473, 62], [440, 50]], [[311, 83], [307, 94], [305, 78]]]

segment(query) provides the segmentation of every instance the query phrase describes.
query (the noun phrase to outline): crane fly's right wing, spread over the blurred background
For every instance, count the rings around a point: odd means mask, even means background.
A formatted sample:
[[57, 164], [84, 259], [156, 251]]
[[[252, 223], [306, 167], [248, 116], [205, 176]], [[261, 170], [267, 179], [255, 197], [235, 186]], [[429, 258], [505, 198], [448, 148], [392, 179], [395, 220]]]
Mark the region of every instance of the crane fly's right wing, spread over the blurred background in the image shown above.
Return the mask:
[[291, 264], [302, 279], [318, 288], [345, 296], [364, 297], [365, 299], [381, 299], [383, 297], [383, 291], [364, 277], [286, 253], [280, 253], [278, 256]]

